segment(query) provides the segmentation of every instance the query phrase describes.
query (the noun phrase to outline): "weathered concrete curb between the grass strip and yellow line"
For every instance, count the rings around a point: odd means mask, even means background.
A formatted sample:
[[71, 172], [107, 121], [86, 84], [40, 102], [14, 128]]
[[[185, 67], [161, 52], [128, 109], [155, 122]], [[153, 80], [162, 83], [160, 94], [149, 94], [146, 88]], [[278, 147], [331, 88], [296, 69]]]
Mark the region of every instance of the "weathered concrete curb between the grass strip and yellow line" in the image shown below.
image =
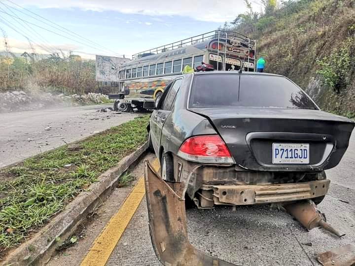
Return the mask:
[[88, 191], [80, 193], [66, 208], [53, 218], [32, 238], [10, 252], [1, 266], [44, 265], [55, 252], [59, 242], [56, 237], [67, 239], [76, 228], [104, 201], [118, 183], [119, 176], [133, 165], [147, 150], [145, 142], [135, 152], [123, 158], [117, 166], [99, 176], [99, 182], [92, 184]]

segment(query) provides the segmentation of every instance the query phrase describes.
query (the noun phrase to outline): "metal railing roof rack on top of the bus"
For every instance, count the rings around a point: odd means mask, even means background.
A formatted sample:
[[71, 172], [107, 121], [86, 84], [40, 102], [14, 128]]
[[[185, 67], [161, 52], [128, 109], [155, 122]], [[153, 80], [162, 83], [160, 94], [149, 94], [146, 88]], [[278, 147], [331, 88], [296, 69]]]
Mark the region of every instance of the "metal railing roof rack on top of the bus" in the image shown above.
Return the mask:
[[250, 43], [250, 40], [247, 36], [243, 35], [242, 33], [237, 33], [237, 32], [231, 32], [231, 31], [223, 31], [223, 30], [216, 30], [208, 33], [203, 33], [200, 35], [192, 36], [186, 39], [182, 39], [176, 42], [172, 42], [163, 46], [155, 47], [137, 54], [132, 55], [132, 60], [142, 58], [146, 55], [152, 55], [152, 54], [160, 54], [163, 52], [171, 51], [174, 49], [178, 49], [187, 45], [193, 45], [198, 42], [203, 42], [207, 40], [212, 40], [215, 38], [224, 38], [227, 36], [229, 39], [234, 39], [238, 40], [241, 43], [244, 43], [245, 45], [249, 45], [250, 48], [252, 48], [253, 44]]

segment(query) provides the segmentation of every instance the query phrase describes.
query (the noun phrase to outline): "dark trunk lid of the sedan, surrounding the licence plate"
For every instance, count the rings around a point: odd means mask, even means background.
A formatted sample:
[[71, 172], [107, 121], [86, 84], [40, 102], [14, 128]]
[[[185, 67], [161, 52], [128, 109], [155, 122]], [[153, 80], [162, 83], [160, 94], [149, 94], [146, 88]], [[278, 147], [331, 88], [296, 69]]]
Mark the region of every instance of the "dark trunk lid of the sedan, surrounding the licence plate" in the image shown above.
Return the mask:
[[[336, 166], [354, 122], [319, 110], [287, 108], [191, 108], [210, 120], [235, 162], [250, 170], [308, 171]], [[308, 164], [273, 164], [273, 143], [309, 144]]]

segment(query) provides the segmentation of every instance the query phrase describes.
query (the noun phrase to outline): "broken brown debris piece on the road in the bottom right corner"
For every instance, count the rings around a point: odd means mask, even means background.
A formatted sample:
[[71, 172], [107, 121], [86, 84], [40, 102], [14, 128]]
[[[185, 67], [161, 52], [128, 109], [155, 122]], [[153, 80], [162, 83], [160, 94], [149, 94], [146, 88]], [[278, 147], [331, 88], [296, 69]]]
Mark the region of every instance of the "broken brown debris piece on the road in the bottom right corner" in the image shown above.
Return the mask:
[[347, 244], [342, 247], [332, 248], [320, 253], [317, 260], [323, 266], [353, 266], [355, 265], [355, 247]]

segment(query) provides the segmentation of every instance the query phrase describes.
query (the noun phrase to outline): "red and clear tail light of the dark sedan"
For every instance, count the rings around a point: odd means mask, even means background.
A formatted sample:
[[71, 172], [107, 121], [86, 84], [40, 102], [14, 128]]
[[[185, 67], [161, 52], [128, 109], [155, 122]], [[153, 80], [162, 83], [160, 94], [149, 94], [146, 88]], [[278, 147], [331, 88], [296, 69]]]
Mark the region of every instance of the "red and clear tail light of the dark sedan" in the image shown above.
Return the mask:
[[206, 164], [235, 163], [219, 135], [200, 135], [186, 139], [178, 151], [178, 156], [187, 161]]

